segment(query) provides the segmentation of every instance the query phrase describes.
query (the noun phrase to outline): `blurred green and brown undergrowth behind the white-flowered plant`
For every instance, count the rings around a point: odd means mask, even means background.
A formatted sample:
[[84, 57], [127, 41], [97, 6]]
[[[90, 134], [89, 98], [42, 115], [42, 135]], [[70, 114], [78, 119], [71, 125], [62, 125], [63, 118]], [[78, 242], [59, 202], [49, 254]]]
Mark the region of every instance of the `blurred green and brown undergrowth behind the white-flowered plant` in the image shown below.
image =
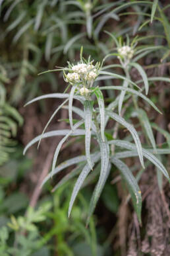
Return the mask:
[[[142, 226], [139, 226], [129, 202], [125, 183], [114, 167], [86, 229], [88, 202], [97, 177], [91, 175], [86, 179], [68, 219], [73, 182], [69, 181], [51, 193], [52, 185], [63, 178], [61, 174], [40, 190], [59, 140], [43, 140], [39, 151], [34, 147], [22, 156], [24, 146], [41, 134], [50, 114], [61, 101], [40, 101], [27, 109], [23, 107], [24, 103], [45, 93], [63, 92], [66, 88], [62, 73], [37, 74], [55, 66], [66, 66], [67, 60], [79, 60], [81, 46], [84, 56], [91, 55], [95, 62], [101, 61], [116, 47], [115, 40], [105, 30], [119, 42], [125, 42], [127, 34], [130, 40], [138, 36], [140, 59], [135, 61], [146, 71], [149, 80], [169, 77], [169, 1], [4, 0], [0, 4], [1, 255], [169, 255], [169, 185], [159, 172], [156, 177], [154, 165], [146, 162], [147, 169], [143, 173], [143, 169], [138, 169], [138, 159], [125, 159], [136, 179], [140, 180]], [[109, 68], [124, 75], [117, 56], [107, 58], [105, 65], [112, 65]], [[141, 79], [134, 67], [130, 76], [132, 81]], [[99, 81], [99, 85], [109, 86], [112, 82], [121, 85], [119, 79], [107, 77]], [[118, 94], [119, 91], [107, 91], [105, 104]], [[152, 81], [147, 97], [159, 107], [162, 115], [144, 101], [138, 101], [138, 105], [149, 116], [156, 144], [160, 149], [168, 148], [168, 80]], [[125, 118], [136, 125], [142, 143], [150, 145], [149, 138], [138, 126], [137, 115], [143, 130], [147, 131], [144, 112], [135, 113], [132, 105], [128, 105]], [[49, 130], [67, 129], [68, 122], [62, 122], [68, 121], [67, 118], [67, 110], [63, 108]], [[113, 129], [113, 123], [109, 129]], [[121, 128], [118, 136], [123, 139], [127, 133]], [[62, 150], [65, 150], [59, 155], [60, 163], [80, 151], [85, 153], [82, 140], [72, 138], [71, 142], [64, 144]], [[169, 156], [160, 155], [159, 160], [169, 171]], [[70, 171], [68, 168], [66, 174]]]

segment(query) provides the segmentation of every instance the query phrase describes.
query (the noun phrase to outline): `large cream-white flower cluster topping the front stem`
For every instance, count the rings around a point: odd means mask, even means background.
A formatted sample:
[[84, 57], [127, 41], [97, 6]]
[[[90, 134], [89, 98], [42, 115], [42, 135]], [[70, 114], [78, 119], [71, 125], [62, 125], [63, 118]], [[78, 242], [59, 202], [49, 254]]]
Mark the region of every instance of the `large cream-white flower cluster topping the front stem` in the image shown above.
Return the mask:
[[80, 83], [81, 79], [87, 82], [94, 81], [98, 74], [96, 68], [92, 64], [73, 65], [71, 70], [73, 73], [67, 73], [65, 81], [70, 83]]

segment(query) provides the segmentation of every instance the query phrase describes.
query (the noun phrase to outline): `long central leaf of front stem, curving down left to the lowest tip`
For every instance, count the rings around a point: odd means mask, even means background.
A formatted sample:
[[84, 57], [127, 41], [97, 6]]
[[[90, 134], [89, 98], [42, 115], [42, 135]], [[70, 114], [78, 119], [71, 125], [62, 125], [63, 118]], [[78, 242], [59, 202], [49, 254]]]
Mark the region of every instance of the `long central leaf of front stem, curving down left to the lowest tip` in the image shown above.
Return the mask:
[[107, 144], [107, 140], [105, 138], [105, 142], [101, 139], [100, 134], [96, 134], [98, 138], [99, 148], [100, 148], [100, 155], [101, 155], [101, 170], [99, 174], [99, 181], [96, 185], [96, 189], [94, 190], [94, 194], [92, 195], [92, 199], [90, 200], [90, 208], [88, 212], [88, 222], [90, 221], [90, 216], [94, 212], [94, 208], [96, 207], [96, 204], [98, 202], [99, 196], [101, 194], [101, 191], [103, 190], [103, 187], [105, 185], [105, 181], [107, 180], [107, 177], [109, 175], [109, 171], [111, 167], [109, 166], [109, 146]]

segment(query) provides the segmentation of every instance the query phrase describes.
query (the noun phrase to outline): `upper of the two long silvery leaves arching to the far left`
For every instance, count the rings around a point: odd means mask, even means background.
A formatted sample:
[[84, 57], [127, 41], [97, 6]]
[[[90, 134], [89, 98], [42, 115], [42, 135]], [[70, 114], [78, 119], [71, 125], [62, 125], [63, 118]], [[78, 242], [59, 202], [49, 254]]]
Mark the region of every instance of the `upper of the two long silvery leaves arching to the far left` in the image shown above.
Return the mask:
[[[26, 105], [30, 105], [31, 103], [34, 103], [36, 101], [40, 101], [42, 99], [50, 99], [50, 98], [57, 98], [57, 99], [67, 99], [69, 98], [69, 93], [49, 93], [49, 94], [45, 94], [39, 97], [36, 97], [34, 99], [32, 99], [31, 101], [28, 101], [28, 103], [26, 103]], [[78, 95], [74, 95], [74, 99], [78, 99], [78, 101], [84, 101], [84, 97], [83, 96], [78, 96]]]

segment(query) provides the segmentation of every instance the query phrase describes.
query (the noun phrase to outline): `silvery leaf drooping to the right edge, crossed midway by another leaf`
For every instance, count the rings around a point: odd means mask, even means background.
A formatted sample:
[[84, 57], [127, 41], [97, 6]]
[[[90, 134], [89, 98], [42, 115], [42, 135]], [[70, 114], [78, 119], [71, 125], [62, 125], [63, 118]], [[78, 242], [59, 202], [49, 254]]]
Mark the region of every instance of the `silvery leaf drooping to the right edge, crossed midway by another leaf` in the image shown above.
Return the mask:
[[[115, 146], [118, 146], [121, 148], [126, 148], [126, 149], [136, 151], [136, 146], [130, 142], [125, 142], [123, 140], [110, 140], [108, 143], [114, 144]], [[157, 149], [157, 151], [158, 150], [159, 149]], [[134, 151], [133, 151], [133, 154], [135, 156]], [[132, 152], [130, 152], [130, 153], [132, 153]], [[159, 161], [159, 159], [157, 159], [157, 157], [155, 157], [155, 155], [153, 155], [150, 151], [148, 151], [147, 149], [144, 149], [144, 148], [142, 148], [142, 153], [143, 153], [144, 157], [146, 157], [148, 160], [150, 160], [152, 163], [154, 163], [154, 165], [156, 165], [156, 167], [159, 169], [159, 171], [161, 171], [163, 173], [163, 175], [165, 175], [165, 177], [167, 177], [167, 179], [169, 179], [169, 174], [167, 173], [167, 170], [165, 169], [163, 164]]]

